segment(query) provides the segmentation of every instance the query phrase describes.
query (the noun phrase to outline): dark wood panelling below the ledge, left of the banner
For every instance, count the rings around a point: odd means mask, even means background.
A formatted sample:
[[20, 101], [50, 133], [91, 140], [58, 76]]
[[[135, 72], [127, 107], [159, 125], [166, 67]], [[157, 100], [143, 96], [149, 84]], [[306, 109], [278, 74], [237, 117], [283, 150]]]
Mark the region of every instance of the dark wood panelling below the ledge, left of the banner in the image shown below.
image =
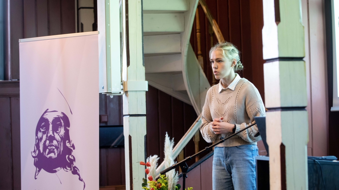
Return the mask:
[[0, 81], [0, 189], [21, 189], [18, 81]]

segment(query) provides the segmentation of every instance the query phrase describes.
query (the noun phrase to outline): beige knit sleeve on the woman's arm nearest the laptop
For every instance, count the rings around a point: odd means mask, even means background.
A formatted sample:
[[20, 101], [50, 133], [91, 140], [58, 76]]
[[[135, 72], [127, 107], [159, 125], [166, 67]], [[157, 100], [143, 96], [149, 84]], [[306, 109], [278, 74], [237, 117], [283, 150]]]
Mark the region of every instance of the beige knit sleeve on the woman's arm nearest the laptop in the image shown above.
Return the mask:
[[[254, 87], [254, 86], [253, 86]], [[252, 95], [249, 95], [248, 97], [246, 97], [246, 112], [248, 117], [251, 119], [251, 123], [246, 124], [246, 123], [242, 123], [242, 124], [236, 124], [236, 130], [235, 132], [240, 131], [241, 129], [247, 127], [248, 125], [251, 125], [252, 123], [255, 123], [254, 121], [254, 117], [265, 117], [266, 116], [266, 112], [265, 112], [265, 107], [264, 104], [262, 102], [261, 96], [259, 94], [259, 91], [257, 90], [257, 88], [253, 88], [251, 90], [254, 90], [254, 93], [250, 93]], [[254, 125], [244, 131], [242, 131], [241, 133], [237, 134], [238, 136], [240, 136], [243, 140], [250, 142], [250, 143], [255, 143], [257, 141], [261, 140], [261, 136], [257, 136], [254, 137], [255, 134], [257, 134], [258, 132], [258, 127], [257, 125]]]

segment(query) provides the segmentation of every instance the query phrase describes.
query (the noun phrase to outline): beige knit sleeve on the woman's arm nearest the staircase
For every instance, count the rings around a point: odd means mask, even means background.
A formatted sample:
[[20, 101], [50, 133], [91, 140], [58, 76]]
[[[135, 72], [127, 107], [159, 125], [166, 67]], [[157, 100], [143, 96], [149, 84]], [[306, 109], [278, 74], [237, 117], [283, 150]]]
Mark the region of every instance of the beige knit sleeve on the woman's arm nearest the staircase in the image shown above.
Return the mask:
[[209, 92], [210, 91], [207, 92], [205, 104], [204, 104], [204, 107], [202, 108], [202, 114], [201, 114], [202, 124], [200, 125], [200, 132], [201, 132], [202, 137], [207, 143], [212, 143], [217, 138], [218, 135], [215, 134], [212, 130], [211, 122], [213, 121], [213, 118], [211, 116], [210, 105], [208, 103]]

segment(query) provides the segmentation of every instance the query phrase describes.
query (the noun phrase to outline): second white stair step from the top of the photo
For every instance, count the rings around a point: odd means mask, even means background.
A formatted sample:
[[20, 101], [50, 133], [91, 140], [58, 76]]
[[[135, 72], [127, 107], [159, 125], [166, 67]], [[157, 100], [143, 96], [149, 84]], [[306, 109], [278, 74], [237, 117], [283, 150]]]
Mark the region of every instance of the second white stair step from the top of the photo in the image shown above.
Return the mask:
[[183, 13], [159, 13], [143, 15], [144, 33], [147, 32], [173, 32], [184, 31]]

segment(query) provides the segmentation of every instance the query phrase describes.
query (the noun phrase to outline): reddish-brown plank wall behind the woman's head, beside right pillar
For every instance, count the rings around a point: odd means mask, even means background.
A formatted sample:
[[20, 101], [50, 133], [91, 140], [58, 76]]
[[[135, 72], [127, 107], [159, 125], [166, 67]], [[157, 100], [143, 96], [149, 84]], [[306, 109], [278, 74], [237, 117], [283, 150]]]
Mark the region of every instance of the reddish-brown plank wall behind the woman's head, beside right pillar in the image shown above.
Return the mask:
[[[258, 88], [264, 101], [264, 60], [262, 58], [261, 36], [263, 27], [262, 1], [206, 0], [206, 3], [217, 21], [225, 41], [233, 43], [240, 51], [240, 60], [244, 66], [243, 71], [239, 72], [240, 76], [251, 81]], [[209, 60], [211, 49], [210, 24], [201, 6], [198, 6], [198, 9], [204, 72], [208, 81], [212, 84], [214, 75]], [[196, 20], [190, 41], [198, 56]], [[213, 44], [217, 42], [217, 38], [213, 35]]]

